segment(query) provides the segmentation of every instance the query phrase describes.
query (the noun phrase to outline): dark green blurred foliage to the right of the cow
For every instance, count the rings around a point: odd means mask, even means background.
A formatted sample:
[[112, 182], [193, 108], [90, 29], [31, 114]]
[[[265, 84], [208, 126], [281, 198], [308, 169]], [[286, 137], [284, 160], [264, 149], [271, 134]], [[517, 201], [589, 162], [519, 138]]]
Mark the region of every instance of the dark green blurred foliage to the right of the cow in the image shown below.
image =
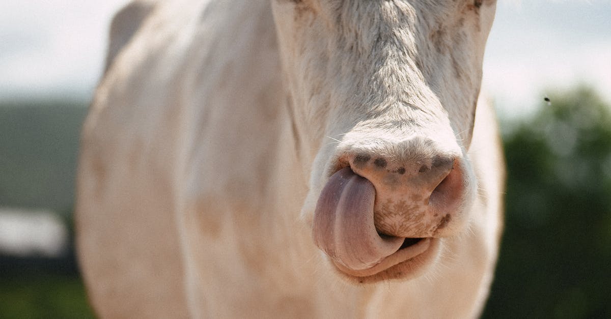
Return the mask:
[[510, 124], [485, 318], [611, 318], [611, 108], [578, 87]]

